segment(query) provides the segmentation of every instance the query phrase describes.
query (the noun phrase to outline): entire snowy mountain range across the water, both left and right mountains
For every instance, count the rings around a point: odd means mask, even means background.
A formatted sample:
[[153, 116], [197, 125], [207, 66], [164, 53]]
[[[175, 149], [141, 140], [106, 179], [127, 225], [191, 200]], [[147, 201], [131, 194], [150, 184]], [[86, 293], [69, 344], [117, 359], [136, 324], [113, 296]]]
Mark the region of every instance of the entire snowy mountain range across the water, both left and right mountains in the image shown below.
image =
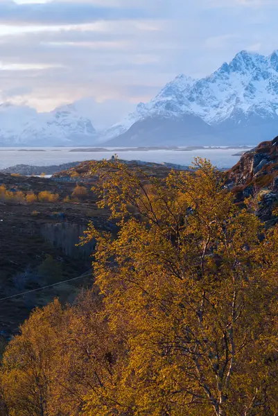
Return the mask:
[[278, 132], [278, 51], [241, 51], [202, 79], [177, 76], [148, 103], [96, 132], [76, 105], [38, 114], [0, 106], [0, 144], [105, 146], [252, 145]]

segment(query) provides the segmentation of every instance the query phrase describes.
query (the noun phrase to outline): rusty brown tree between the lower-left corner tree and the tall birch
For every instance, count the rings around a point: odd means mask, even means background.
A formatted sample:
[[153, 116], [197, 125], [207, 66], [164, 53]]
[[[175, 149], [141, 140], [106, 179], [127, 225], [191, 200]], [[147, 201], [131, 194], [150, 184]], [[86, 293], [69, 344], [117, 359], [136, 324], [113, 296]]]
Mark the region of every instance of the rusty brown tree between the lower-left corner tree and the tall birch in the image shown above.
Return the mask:
[[94, 290], [80, 295], [65, 311], [64, 320], [56, 353], [51, 416], [87, 415], [87, 396], [92, 391], [102, 412], [105, 396], [114, 395], [119, 381], [125, 343], [118, 330], [111, 331]]

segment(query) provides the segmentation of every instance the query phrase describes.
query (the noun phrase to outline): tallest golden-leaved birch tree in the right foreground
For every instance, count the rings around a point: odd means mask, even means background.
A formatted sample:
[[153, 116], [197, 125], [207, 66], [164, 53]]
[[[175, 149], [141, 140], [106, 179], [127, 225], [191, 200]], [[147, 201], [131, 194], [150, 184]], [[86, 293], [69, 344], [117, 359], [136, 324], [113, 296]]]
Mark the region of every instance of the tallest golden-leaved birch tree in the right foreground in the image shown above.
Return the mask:
[[[128, 363], [105, 404], [123, 415], [275, 415], [269, 240], [235, 207], [221, 173], [206, 160], [194, 167], [166, 181], [119, 162], [94, 167], [100, 206], [121, 229], [115, 240], [90, 225], [85, 241], [98, 241], [94, 272], [110, 324], [128, 331]], [[97, 403], [92, 392], [89, 415], [106, 415]]]

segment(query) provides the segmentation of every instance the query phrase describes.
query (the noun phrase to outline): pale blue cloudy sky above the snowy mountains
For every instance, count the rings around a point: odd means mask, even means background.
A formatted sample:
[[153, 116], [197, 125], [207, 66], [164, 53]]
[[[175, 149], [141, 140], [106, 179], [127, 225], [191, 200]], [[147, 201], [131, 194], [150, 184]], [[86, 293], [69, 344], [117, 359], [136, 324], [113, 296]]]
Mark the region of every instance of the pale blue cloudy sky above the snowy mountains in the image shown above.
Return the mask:
[[106, 127], [179, 73], [278, 49], [277, 12], [278, 0], [0, 0], [0, 102], [90, 98]]

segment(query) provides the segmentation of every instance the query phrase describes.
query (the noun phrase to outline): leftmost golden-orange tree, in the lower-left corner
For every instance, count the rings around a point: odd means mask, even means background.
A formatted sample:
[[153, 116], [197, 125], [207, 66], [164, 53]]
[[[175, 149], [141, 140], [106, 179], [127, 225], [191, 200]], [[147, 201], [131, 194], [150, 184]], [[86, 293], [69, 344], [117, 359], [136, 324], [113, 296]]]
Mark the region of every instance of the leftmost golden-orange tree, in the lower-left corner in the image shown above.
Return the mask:
[[48, 416], [62, 309], [58, 301], [35, 310], [10, 341], [1, 367], [1, 393], [9, 416]]

